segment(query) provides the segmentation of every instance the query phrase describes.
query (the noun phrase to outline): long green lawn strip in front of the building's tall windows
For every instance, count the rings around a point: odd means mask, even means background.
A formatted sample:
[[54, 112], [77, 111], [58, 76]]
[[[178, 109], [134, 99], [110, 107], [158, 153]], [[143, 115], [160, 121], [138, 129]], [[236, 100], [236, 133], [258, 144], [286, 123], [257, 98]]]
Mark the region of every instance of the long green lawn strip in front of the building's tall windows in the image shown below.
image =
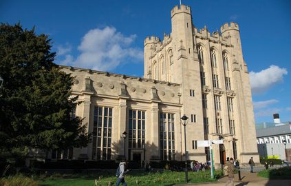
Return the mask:
[[[215, 172], [217, 176], [222, 176], [222, 172]], [[113, 176], [110, 176], [113, 175]], [[189, 183], [213, 182], [216, 179], [210, 178], [210, 171], [207, 172], [188, 172]], [[127, 185], [174, 185], [182, 184], [185, 179], [184, 172], [129, 172], [125, 180]], [[43, 186], [84, 186], [84, 185], [115, 185], [116, 177], [114, 172], [101, 172], [95, 175], [54, 175], [50, 178], [39, 180], [39, 185]]]

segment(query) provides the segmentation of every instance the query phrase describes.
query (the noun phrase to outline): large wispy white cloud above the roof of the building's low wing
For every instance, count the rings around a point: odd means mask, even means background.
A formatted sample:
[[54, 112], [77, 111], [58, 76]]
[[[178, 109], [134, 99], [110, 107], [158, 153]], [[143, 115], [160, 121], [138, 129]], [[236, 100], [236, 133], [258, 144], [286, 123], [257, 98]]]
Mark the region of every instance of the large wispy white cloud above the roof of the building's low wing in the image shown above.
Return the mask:
[[70, 63], [80, 68], [109, 71], [121, 63], [140, 62], [144, 56], [142, 50], [130, 46], [135, 39], [136, 34], [125, 37], [114, 27], [89, 30], [78, 46], [80, 54], [76, 59], [69, 55], [62, 63]]

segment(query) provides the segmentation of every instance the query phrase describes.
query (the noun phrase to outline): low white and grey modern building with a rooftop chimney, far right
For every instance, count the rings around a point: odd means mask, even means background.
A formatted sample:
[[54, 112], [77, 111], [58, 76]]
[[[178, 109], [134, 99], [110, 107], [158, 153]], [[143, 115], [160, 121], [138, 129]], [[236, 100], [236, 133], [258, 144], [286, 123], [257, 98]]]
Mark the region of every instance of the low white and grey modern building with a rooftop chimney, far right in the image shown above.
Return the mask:
[[274, 123], [256, 125], [257, 144], [261, 158], [291, 161], [291, 122], [280, 122], [274, 114]]

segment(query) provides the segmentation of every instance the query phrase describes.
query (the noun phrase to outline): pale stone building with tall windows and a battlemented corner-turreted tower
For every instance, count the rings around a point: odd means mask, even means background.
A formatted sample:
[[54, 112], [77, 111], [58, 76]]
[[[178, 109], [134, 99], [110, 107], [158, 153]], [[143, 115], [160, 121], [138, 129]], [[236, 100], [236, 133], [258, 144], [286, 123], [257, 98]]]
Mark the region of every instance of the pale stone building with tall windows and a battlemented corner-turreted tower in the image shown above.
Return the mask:
[[198, 30], [184, 5], [171, 10], [171, 24], [162, 41], [144, 40], [144, 78], [61, 67], [76, 76], [72, 95], [83, 101], [76, 115], [93, 136], [87, 147], [53, 152], [53, 158], [184, 161], [185, 114], [188, 159], [208, 161], [208, 147], [197, 141], [222, 139], [213, 145], [215, 165], [228, 156], [259, 162], [239, 25], [226, 23], [212, 34]]

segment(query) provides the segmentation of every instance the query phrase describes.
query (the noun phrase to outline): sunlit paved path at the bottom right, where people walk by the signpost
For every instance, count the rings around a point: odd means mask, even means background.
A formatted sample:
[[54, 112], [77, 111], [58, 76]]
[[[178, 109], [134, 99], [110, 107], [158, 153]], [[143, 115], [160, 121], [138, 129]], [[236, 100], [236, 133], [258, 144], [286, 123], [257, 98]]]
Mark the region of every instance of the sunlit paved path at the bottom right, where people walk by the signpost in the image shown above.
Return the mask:
[[[224, 176], [220, 178], [215, 183], [197, 183], [197, 184], [187, 184], [187, 186], [219, 186], [226, 185], [228, 181], [228, 177]], [[257, 173], [251, 172], [241, 172], [241, 180], [238, 178], [238, 174], [235, 174], [235, 184], [236, 186], [291, 186], [291, 178], [290, 180], [269, 180], [268, 178], [263, 178], [261, 176], [257, 176]]]

